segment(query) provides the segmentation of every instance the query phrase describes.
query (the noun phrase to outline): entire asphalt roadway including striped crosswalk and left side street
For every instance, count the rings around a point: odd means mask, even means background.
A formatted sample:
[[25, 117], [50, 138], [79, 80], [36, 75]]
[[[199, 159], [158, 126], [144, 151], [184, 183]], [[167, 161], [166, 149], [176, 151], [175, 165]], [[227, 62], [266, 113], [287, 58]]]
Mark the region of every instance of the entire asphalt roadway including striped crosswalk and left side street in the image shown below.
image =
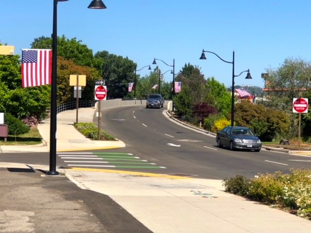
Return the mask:
[[[163, 111], [163, 108], [144, 107], [103, 110], [102, 128], [122, 140], [126, 147], [87, 153], [114, 166], [82, 159], [78, 157], [81, 151], [57, 153], [57, 166], [178, 174], [207, 179], [224, 179], [236, 174], [252, 178], [258, 173], [288, 173], [291, 168], [311, 169], [310, 156], [264, 149], [254, 152], [218, 148], [214, 137], [173, 123]], [[49, 153], [2, 153], [1, 162], [48, 165]]]

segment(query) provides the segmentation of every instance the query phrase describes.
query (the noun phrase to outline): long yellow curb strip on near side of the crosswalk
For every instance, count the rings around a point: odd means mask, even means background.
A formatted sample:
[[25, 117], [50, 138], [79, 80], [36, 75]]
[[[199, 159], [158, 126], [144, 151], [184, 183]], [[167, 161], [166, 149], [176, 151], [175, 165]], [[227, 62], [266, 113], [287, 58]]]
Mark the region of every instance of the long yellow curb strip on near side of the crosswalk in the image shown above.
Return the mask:
[[155, 174], [155, 173], [137, 172], [137, 171], [121, 171], [121, 170], [108, 170], [108, 169], [83, 168], [83, 167], [64, 167], [64, 169], [73, 169], [73, 170], [77, 170], [77, 171], [119, 173], [119, 174], [135, 175], [135, 176], [148, 176], [148, 177], [176, 179], [176, 180], [177, 179], [191, 179], [190, 177], [172, 176], [172, 175], [166, 175], [166, 174]]

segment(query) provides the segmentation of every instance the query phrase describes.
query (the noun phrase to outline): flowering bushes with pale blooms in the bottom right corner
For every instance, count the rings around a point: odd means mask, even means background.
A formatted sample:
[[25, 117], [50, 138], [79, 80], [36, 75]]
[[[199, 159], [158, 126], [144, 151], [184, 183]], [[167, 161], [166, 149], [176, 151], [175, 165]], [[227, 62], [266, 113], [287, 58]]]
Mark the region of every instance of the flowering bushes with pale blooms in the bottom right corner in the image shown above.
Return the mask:
[[223, 184], [226, 192], [311, 220], [309, 169], [292, 169], [291, 174], [283, 174], [280, 171], [259, 174], [253, 179], [236, 175], [234, 178], [225, 178]]

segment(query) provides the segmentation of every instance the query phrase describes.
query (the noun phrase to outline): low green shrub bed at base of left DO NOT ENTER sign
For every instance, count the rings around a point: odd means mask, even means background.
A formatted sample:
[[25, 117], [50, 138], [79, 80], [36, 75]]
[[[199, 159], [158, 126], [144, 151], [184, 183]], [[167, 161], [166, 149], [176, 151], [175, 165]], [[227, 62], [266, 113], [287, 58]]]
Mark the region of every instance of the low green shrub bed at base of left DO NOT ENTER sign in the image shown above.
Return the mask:
[[114, 136], [109, 135], [104, 130], [101, 130], [100, 138], [98, 138], [98, 127], [93, 123], [74, 123], [74, 127], [87, 138], [91, 138], [93, 140], [116, 140]]

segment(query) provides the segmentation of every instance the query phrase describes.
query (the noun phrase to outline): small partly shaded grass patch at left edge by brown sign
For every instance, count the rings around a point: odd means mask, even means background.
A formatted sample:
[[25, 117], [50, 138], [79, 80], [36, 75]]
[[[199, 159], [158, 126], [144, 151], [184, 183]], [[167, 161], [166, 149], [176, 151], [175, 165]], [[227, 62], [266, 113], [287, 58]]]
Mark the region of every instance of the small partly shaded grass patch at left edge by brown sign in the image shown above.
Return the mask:
[[4, 142], [4, 137], [0, 137], [0, 146], [27, 146], [37, 145], [42, 143], [42, 137], [36, 126], [30, 128], [28, 133], [23, 133], [17, 136], [8, 135], [7, 142]]

